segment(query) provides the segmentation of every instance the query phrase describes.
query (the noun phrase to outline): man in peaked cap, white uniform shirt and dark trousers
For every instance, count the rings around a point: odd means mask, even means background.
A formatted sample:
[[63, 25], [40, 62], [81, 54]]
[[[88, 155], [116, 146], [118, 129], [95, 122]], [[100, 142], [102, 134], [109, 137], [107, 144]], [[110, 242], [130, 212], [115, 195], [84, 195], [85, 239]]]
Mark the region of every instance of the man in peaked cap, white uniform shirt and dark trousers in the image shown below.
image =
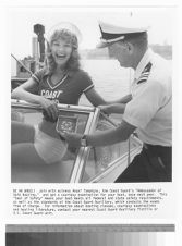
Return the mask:
[[170, 182], [172, 180], [172, 89], [170, 63], [148, 48], [147, 28], [100, 22], [101, 41], [109, 56], [134, 70], [132, 100], [101, 107], [123, 113], [121, 124], [99, 134], [64, 134], [74, 146], [105, 146], [126, 140], [135, 131], [143, 149], [116, 182]]

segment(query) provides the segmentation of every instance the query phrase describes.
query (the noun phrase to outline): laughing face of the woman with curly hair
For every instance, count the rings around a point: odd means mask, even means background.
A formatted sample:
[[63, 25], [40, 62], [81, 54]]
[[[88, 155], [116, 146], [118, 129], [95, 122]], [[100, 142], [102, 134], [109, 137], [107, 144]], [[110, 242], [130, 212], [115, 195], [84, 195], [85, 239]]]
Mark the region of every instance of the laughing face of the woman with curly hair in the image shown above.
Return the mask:
[[58, 66], [64, 66], [72, 53], [72, 44], [68, 40], [59, 38], [52, 41], [51, 53]]

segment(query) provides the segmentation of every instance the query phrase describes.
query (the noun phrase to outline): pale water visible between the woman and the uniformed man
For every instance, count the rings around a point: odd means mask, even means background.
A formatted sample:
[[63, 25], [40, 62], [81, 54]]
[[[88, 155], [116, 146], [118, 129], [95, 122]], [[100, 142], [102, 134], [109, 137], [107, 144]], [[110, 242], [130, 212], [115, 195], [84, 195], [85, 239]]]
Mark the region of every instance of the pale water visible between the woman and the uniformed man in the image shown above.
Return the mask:
[[[107, 101], [119, 99], [130, 91], [133, 71], [123, 69], [116, 60], [82, 60], [82, 67], [92, 77], [96, 90]], [[89, 102], [82, 96], [80, 104]]]

